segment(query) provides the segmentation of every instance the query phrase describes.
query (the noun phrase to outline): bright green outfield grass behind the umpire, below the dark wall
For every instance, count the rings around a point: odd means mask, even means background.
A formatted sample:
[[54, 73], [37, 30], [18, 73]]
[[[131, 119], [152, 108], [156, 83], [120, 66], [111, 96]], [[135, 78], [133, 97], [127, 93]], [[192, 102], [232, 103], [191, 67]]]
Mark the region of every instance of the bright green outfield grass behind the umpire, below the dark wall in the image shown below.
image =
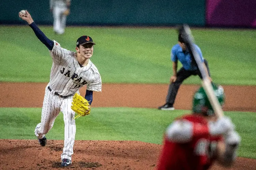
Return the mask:
[[[76, 39], [89, 35], [96, 42], [91, 58], [103, 83], [169, 83], [173, 28], [68, 27], [63, 35], [39, 26], [63, 48], [75, 50]], [[255, 30], [191, 29], [219, 84], [256, 85]], [[52, 59], [29, 26], [0, 26], [0, 81], [48, 82]], [[181, 64], [179, 64], [181, 66]], [[197, 77], [184, 84], [199, 84]]]

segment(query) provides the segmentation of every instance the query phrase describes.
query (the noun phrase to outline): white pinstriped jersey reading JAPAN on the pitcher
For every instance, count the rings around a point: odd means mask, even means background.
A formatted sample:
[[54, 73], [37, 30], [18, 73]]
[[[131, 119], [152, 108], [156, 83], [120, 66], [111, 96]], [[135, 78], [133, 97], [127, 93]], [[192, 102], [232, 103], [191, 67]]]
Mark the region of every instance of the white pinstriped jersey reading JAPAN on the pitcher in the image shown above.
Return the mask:
[[53, 65], [48, 85], [59, 95], [73, 95], [84, 85], [87, 85], [87, 90], [101, 91], [100, 73], [89, 59], [88, 64], [81, 67], [76, 52], [61, 48], [55, 40], [50, 53]]

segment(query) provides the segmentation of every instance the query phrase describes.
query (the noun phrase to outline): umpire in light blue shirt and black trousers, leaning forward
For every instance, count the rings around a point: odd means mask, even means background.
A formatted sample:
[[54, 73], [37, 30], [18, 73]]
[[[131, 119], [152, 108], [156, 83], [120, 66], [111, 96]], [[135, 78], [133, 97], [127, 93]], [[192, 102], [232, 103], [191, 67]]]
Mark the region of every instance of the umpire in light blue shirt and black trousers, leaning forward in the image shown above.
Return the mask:
[[[203, 58], [200, 48], [197, 45], [195, 46], [196, 46], [196, 51], [198, 52], [201, 58], [201, 62], [204, 63], [206, 72], [210, 76], [208, 63]], [[199, 75], [199, 77], [202, 79], [202, 75], [196, 65], [195, 59], [191, 57], [191, 54], [187, 46], [185, 45], [184, 39], [181, 34], [179, 34], [179, 37], [178, 37], [178, 44], [172, 47], [171, 60], [172, 60], [173, 75], [170, 78], [170, 85], [169, 85], [169, 90], [166, 97], [166, 103], [158, 107], [158, 109], [161, 109], [161, 110], [174, 110], [173, 104], [174, 104], [177, 92], [180, 88], [180, 85], [185, 79], [187, 79], [191, 75]], [[181, 62], [182, 68], [177, 72], [178, 61]], [[210, 77], [209, 79], [211, 80]]]

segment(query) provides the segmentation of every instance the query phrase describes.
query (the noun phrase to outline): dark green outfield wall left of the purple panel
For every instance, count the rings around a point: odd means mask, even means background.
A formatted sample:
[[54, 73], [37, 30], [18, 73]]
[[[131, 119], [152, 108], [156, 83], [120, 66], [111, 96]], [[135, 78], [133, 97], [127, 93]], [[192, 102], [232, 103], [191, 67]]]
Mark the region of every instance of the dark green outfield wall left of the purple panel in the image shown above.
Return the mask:
[[[20, 10], [28, 10], [37, 24], [52, 24], [49, 1], [1, 0], [0, 24], [25, 24]], [[72, 0], [68, 25], [175, 26], [205, 25], [204, 0]]]

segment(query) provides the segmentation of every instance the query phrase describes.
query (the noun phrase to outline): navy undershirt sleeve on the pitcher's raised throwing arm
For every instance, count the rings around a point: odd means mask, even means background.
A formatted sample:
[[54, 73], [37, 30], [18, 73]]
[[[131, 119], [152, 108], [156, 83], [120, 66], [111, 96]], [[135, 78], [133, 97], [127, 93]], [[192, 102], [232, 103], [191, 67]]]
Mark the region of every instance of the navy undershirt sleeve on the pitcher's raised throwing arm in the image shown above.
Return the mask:
[[53, 45], [54, 42], [52, 40], [50, 40], [49, 38], [47, 38], [44, 33], [37, 27], [37, 25], [35, 24], [35, 22], [32, 22], [31, 24], [29, 24], [29, 26], [32, 28], [32, 30], [34, 31], [35, 35], [37, 36], [37, 38], [49, 49], [52, 50], [53, 49]]

